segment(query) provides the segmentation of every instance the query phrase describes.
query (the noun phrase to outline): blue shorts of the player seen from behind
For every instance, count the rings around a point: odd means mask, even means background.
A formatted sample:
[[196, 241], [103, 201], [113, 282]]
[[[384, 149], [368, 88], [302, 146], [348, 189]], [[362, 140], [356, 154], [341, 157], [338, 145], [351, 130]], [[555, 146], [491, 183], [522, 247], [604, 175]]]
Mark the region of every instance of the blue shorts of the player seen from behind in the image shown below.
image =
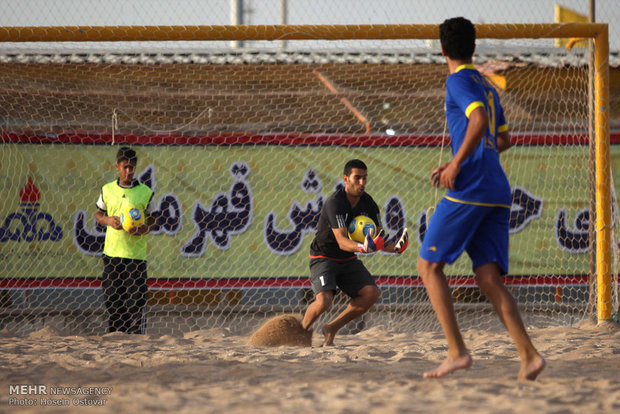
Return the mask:
[[497, 263], [508, 273], [510, 209], [456, 203], [443, 198], [431, 217], [420, 247], [420, 257], [433, 262], [454, 263], [463, 250], [472, 268]]

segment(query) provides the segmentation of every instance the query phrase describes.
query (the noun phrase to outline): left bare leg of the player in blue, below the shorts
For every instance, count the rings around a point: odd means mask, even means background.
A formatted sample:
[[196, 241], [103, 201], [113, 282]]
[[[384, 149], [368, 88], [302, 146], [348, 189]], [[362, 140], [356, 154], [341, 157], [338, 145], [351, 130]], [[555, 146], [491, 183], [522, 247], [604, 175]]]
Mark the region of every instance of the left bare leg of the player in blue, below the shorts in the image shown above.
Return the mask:
[[454, 314], [452, 294], [443, 273], [444, 265], [444, 262], [432, 263], [422, 258], [418, 259], [418, 272], [448, 341], [447, 358], [434, 370], [425, 372], [424, 378], [440, 378], [456, 370], [469, 368], [472, 364], [471, 355], [465, 347]]

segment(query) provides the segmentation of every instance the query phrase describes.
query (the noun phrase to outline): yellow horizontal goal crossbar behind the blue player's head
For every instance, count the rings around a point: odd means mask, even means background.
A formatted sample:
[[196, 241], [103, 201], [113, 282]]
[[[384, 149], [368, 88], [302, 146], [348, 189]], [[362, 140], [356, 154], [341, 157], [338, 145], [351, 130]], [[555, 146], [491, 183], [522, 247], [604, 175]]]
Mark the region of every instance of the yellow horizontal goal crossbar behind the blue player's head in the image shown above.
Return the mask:
[[[488, 39], [607, 37], [603, 23], [477, 24]], [[436, 24], [2, 27], [0, 42], [437, 39]]]

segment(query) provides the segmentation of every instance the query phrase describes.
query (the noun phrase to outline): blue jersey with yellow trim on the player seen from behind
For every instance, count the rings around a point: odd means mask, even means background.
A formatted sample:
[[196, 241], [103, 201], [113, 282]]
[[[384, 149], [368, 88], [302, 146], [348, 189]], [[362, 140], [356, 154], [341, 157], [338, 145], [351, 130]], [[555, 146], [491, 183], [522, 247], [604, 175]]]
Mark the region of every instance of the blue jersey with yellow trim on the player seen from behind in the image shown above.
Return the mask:
[[499, 162], [497, 135], [508, 130], [499, 95], [473, 65], [459, 66], [446, 80], [446, 118], [450, 129], [452, 155], [463, 144], [469, 114], [484, 107], [489, 126], [478, 147], [461, 165], [446, 198], [455, 202], [500, 205], [510, 208], [510, 184]]

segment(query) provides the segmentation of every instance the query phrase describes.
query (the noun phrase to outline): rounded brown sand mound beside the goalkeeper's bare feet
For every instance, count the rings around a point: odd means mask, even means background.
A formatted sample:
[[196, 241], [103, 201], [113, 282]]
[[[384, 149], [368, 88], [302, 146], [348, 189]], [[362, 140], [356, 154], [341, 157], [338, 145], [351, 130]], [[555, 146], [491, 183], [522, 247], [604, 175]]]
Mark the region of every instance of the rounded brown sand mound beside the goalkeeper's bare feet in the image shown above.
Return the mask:
[[280, 315], [269, 319], [248, 340], [256, 346], [312, 346], [312, 331], [301, 327], [294, 315]]

